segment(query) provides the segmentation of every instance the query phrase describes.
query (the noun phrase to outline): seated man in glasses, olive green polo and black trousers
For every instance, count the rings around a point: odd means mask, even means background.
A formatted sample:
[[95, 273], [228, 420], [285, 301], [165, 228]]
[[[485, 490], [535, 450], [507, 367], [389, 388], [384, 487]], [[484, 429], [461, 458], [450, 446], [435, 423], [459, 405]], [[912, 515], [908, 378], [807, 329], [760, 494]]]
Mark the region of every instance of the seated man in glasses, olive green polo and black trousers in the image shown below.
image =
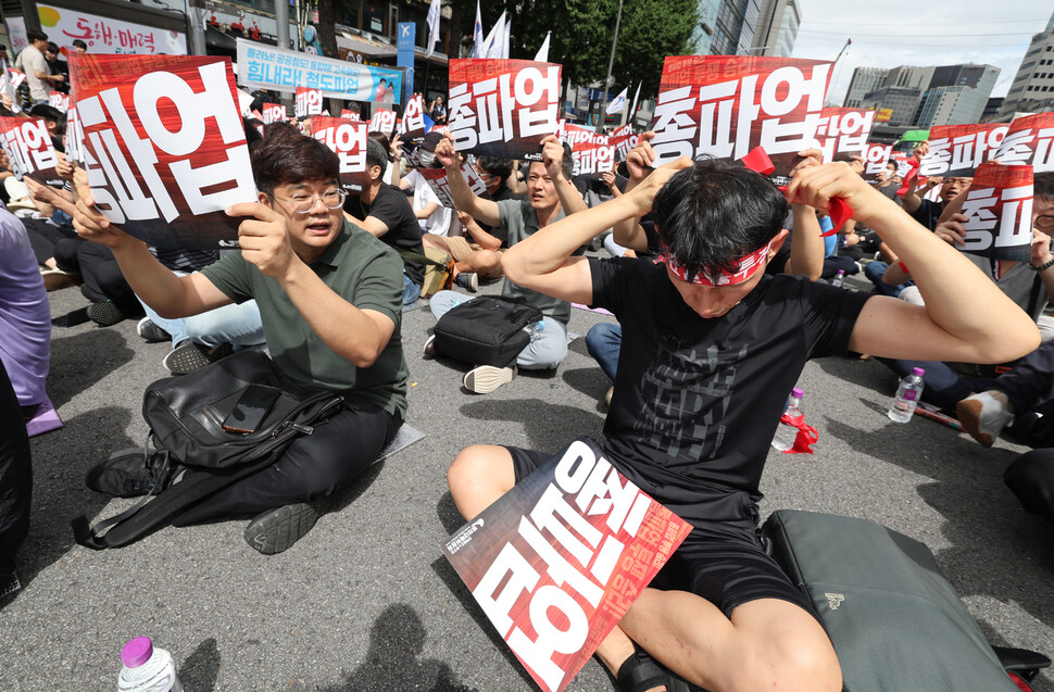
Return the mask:
[[[180, 515], [186, 525], [228, 514], [256, 514], [246, 540], [278, 553], [317, 518], [309, 504], [347, 486], [391, 441], [406, 411], [409, 372], [399, 326], [402, 260], [369, 232], [347, 223], [337, 156], [292, 128], [276, 127], [252, 153], [259, 201], [236, 204], [244, 216], [239, 252], [178, 277], [147, 246], [95, 207], [78, 172], [74, 227], [108, 246], [128, 284], [168, 317], [196, 315], [255, 299], [275, 364], [306, 387], [344, 397], [344, 408], [297, 439], [269, 466]], [[88, 471], [92, 490], [145, 494], [155, 480], [142, 454], [116, 456]], [[164, 479], [167, 480], [167, 479]]]

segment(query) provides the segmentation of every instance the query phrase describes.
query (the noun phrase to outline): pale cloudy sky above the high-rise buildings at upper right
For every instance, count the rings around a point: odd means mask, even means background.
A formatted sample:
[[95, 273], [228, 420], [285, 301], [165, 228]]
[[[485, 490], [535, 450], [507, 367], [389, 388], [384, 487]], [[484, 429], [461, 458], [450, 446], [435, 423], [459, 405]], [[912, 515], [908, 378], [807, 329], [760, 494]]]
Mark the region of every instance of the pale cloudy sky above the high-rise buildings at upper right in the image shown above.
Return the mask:
[[1054, 12], [1046, 0], [799, 0], [799, 7], [795, 58], [833, 60], [853, 39], [831, 77], [829, 100], [837, 103], [861, 66], [995, 65], [1002, 72], [992, 96], [1005, 96], [1032, 35]]

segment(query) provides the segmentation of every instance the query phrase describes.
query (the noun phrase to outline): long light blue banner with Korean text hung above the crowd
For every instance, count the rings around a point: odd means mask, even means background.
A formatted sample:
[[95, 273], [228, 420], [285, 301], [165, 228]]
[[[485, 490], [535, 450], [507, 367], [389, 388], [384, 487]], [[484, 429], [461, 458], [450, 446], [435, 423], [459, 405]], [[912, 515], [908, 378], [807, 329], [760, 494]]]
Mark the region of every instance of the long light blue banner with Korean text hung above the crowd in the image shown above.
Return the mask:
[[238, 84], [252, 89], [294, 92], [319, 89], [323, 96], [350, 101], [400, 101], [399, 70], [374, 67], [347, 60], [285, 50], [238, 39]]

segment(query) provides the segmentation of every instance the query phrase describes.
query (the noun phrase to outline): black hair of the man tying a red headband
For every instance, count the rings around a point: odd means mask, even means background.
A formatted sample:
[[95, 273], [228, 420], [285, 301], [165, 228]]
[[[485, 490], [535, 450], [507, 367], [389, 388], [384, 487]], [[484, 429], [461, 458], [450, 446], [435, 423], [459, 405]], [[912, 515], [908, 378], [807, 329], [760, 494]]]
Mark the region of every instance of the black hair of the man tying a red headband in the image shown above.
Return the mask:
[[741, 165], [703, 158], [677, 172], [655, 196], [655, 230], [690, 277], [716, 280], [776, 237], [787, 200], [773, 183]]

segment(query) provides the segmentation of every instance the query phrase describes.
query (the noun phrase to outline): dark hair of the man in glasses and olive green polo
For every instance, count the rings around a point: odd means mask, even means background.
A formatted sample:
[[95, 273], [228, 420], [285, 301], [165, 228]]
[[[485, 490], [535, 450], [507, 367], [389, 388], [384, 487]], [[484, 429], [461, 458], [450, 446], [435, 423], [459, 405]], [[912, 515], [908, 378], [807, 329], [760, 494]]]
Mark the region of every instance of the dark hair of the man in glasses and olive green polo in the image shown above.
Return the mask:
[[340, 179], [337, 154], [288, 123], [267, 126], [266, 137], [253, 147], [251, 159], [256, 189], [267, 194], [279, 185]]

